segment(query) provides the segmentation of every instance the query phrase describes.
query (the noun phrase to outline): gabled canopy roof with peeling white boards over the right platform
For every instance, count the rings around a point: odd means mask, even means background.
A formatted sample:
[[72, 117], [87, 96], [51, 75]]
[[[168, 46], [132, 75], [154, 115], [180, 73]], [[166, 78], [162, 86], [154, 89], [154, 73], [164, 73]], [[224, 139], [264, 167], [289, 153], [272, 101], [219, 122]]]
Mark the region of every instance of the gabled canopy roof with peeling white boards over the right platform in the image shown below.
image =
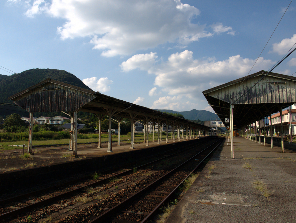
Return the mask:
[[261, 70], [202, 93], [224, 126], [232, 105], [233, 126], [240, 129], [293, 105], [295, 89], [295, 77]]

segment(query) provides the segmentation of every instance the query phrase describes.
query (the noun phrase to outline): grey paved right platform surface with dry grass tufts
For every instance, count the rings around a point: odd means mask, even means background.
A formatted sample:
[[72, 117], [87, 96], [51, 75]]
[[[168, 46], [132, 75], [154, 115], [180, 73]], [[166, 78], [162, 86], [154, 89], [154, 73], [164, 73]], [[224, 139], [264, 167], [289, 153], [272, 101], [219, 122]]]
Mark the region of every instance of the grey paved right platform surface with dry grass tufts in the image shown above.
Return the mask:
[[295, 161], [295, 151], [244, 137], [232, 159], [226, 139], [165, 222], [295, 222]]

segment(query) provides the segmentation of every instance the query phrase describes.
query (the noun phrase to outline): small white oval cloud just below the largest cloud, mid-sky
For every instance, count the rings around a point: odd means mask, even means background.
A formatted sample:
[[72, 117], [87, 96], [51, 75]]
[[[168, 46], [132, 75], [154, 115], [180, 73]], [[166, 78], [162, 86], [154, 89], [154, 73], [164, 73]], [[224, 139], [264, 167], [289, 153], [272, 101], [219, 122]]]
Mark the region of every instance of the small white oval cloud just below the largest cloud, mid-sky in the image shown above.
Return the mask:
[[148, 70], [155, 64], [157, 53], [151, 52], [150, 54], [137, 54], [129, 58], [127, 61], [121, 63], [120, 67], [123, 71], [130, 71], [136, 68], [141, 70]]

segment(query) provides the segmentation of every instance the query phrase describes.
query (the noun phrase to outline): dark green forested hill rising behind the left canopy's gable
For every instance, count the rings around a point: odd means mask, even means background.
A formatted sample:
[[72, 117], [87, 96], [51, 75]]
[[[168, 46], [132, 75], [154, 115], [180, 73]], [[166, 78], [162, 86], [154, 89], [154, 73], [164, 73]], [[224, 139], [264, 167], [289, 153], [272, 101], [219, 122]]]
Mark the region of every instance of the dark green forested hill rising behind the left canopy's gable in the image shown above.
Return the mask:
[[[21, 116], [27, 117], [28, 112], [18, 108], [18, 106], [12, 106], [13, 102], [7, 98], [47, 78], [91, 90], [79, 78], [65, 70], [36, 68], [23, 71], [22, 73], [15, 73], [10, 76], [0, 74], [0, 103], [2, 103], [0, 104], [0, 115], [4, 116], [11, 113], [19, 113]], [[34, 113], [34, 116], [41, 116], [40, 114]], [[45, 115], [45, 113], [42, 113], [42, 115]], [[52, 113], [49, 116], [52, 116]]]

